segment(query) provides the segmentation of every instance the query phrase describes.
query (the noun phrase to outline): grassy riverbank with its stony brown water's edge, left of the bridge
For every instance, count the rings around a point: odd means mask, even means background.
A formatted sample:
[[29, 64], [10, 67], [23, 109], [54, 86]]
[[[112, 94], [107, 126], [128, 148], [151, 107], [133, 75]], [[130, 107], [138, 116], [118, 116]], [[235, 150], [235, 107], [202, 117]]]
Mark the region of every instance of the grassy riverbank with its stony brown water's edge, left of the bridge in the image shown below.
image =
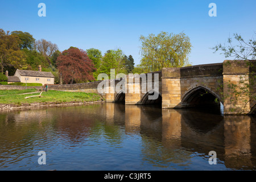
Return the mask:
[[[61, 92], [49, 90], [48, 92], [42, 92], [40, 95], [40, 93], [35, 91], [36, 90], [34, 89], [0, 90], [0, 110], [28, 109], [32, 107], [71, 106], [104, 102], [104, 99], [97, 93]], [[40, 97], [37, 97], [39, 95]]]

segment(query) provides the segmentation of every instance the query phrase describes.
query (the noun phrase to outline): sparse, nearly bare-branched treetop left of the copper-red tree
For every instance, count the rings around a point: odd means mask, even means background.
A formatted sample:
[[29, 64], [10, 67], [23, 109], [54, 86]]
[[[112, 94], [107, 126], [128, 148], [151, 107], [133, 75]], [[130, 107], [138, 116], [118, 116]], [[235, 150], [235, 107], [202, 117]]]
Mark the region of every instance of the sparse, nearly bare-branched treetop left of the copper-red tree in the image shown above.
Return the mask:
[[51, 41], [47, 41], [45, 39], [36, 40], [35, 41], [35, 49], [36, 51], [42, 53], [42, 55], [49, 57], [53, 52], [57, 51], [59, 48], [57, 44], [51, 43]]

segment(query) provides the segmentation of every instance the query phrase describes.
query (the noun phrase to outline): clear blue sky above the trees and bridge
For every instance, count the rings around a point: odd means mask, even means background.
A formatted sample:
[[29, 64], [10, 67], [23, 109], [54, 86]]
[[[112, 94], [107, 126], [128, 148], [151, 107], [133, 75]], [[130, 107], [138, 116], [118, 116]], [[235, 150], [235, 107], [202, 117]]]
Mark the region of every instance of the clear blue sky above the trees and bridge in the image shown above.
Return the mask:
[[[46, 17], [38, 16], [41, 2], [46, 4]], [[217, 17], [208, 15], [212, 2]], [[193, 46], [189, 61], [197, 65], [224, 61], [210, 47], [233, 33], [251, 38], [256, 31], [255, 7], [255, 0], [10, 0], [0, 4], [0, 28], [29, 32], [35, 39], [56, 43], [60, 51], [73, 46], [97, 48], [103, 54], [120, 48], [135, 64], [141, 59], [139, 36], [184, 32]]]

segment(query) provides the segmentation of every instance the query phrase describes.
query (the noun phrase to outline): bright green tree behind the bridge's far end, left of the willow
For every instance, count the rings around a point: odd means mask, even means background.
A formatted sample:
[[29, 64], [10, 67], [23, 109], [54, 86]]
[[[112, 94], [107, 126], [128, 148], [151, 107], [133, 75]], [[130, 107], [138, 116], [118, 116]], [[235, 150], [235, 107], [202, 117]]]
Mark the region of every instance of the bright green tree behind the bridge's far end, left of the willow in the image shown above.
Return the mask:
[[123, 55], [121, 49], [108, 50], [104, 57], [102, 57], [102, 64], [99, 72], [110, 75], [110, 69], [115, 69], [115, 74], [126, 74], [125, 60], [123, 59], [124, 56], [125, 55]]

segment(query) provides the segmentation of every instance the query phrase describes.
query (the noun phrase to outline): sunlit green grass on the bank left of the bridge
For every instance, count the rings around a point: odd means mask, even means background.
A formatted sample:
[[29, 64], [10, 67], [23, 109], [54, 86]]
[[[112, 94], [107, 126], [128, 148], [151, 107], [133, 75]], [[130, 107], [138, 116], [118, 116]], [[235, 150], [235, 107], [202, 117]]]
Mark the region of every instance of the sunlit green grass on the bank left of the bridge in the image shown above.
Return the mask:
[[[100, 101], [101, 97], [96, 93], [83, 93], [83, 92], [61, 92], [55, 90], [49, 90], [43, 92], [42, 97], [31, 97], [37, 96], [40, 93], [24, 94], [36, 92], [36, 89], [27, 90], [0, 90], [0, 104], [31, 104], [31, 103], [66, 103], [66, 102], [93, 102]], [[22, 95], [20, 95], [22, 94]]]

